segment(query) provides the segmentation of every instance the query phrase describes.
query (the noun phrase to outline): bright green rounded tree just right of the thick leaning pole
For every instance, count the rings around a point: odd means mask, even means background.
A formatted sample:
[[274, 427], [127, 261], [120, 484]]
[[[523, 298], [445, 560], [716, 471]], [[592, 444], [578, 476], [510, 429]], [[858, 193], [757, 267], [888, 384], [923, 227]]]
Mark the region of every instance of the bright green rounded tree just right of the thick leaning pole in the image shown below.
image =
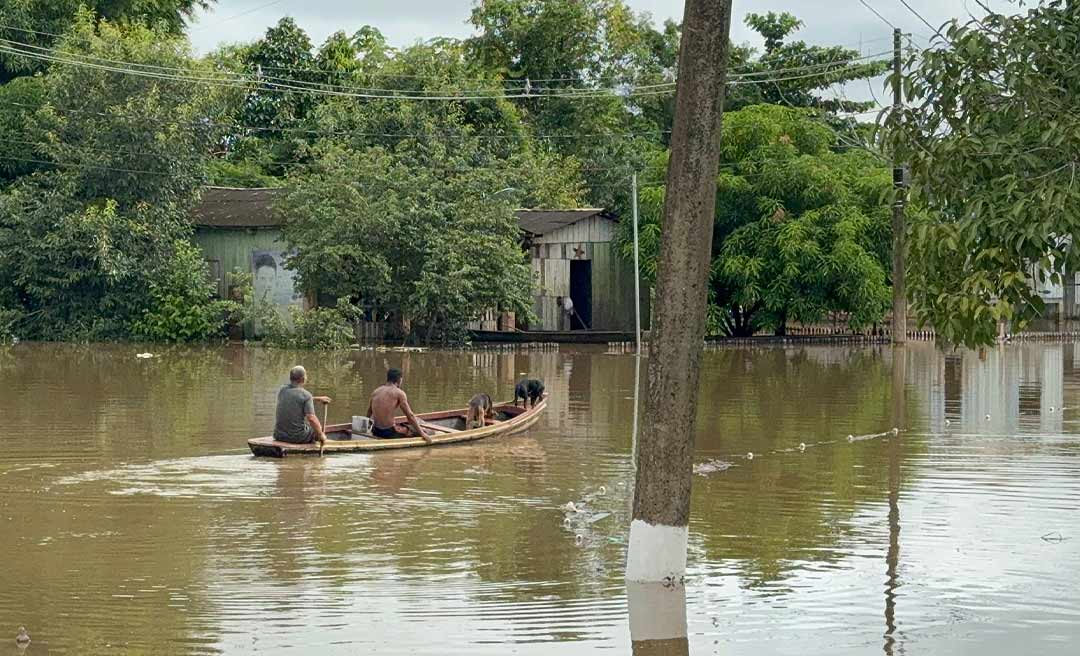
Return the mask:
[[[888, 192], [880, 162], [836, 153], [836, 134], [805, 110], [761, 105], [727, 115], [717, 180], [711, 330], [784, 332], [843, 312], [853, 327], [889, 307]], [[658, 158], [653, 168], [665, 168]], [[656, 278], [663, 187], [640, 193], [643, 272]], [[623, 229], [623, 253], [633, 243]]]

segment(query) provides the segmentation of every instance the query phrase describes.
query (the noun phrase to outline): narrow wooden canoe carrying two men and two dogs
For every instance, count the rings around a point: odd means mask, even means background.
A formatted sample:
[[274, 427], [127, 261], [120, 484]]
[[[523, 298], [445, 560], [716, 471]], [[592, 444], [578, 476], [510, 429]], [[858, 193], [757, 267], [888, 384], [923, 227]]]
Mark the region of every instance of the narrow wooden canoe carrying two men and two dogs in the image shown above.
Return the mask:
[[[390, 449], [418, 449], [438, 446], [442, 444], [459, 444], [475, 442], [500, 436], [511, 436], [523, 432], [540, 418], [540, 413], [548, 407], [548, 396], [535, 407], [519, 407], [513, 403], [500, 403], [494, 407], [496, 418], [483, 428], [464, 430], [468, 410], [448, 410], [417, 415], [431, 436], [431, 444], [421, 438], [396, 438], [379, 440], [370, 436], [354, 434], [352, 424], [335, 424], [327, 426], [326, 449], [324, 453], [360, 453], [366, 451], [386, 451]], [[397, 417], [399, 425], [407, 425], [405, 417]], [[255, 438], [247, 441], [252, 453], [256, 456], [283, 458], [287, 455], [319, 455], [319, 444], [291, 444], [279, 442], [273, 438]]]

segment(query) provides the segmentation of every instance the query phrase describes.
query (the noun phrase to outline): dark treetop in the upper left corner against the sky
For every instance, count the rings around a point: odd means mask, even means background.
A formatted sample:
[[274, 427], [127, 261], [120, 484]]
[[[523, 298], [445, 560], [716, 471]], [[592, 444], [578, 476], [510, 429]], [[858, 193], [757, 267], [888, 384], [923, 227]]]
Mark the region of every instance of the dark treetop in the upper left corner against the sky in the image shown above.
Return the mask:
[[[56, 44], [77, 22], [80, 8], [112, 23], [138, 22], [154, 25], [168, 36], [178, 36], [195, 11], [210, 8], [215, 0], [24, 0], [0, 3], [0, 38], [38, 48]], [[0, 53], [0, 84], [8, 80], [43, 70], [41, 59]]]

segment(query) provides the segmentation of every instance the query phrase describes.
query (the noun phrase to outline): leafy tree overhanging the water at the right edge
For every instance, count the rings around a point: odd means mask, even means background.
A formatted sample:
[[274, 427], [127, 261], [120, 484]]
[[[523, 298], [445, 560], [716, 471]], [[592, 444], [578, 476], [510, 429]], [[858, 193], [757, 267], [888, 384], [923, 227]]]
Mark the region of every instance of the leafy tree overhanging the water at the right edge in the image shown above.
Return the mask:
[[1032, 280], [1080, 265], [1080, 5], [989, 12], [944, 35], [909, 63], [909, 108], [885, 129], [924, 210], [909, 218], [912, 308], [944, 340], [978, 346], [999, 321], [1043, 313]]

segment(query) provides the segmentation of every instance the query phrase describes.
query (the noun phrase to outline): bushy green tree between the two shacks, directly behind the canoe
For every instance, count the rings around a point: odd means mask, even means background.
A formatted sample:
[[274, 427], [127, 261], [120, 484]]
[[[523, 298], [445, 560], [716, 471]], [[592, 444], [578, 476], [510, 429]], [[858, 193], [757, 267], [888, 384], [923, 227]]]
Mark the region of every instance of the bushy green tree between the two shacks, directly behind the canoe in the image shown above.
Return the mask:
[[406, 334], [422, 327], [429, 342], [460, 338], [489, 309], [527, 316], [531, 273], [492, 177], [329, 146], [279, 207], [289, 266], [305, 287], [389, 316]]

